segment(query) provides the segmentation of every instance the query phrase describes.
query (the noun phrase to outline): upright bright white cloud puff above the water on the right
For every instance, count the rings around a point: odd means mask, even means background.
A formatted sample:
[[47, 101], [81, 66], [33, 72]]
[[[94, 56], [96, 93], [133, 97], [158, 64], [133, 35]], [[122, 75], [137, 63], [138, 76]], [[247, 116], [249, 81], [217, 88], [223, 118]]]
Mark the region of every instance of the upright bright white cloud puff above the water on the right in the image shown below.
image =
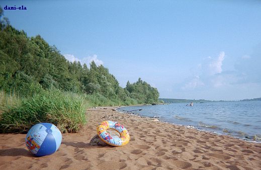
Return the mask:
[[222, 62], [225, 58], [225, 52], [221, 51], [219, 53], [219, 56], [217, 59], [213, 60], [210, 64], [209, 64], [209, 73], [210, 74], [216, 74], [216, 73], [221, 73], [222, 72]]

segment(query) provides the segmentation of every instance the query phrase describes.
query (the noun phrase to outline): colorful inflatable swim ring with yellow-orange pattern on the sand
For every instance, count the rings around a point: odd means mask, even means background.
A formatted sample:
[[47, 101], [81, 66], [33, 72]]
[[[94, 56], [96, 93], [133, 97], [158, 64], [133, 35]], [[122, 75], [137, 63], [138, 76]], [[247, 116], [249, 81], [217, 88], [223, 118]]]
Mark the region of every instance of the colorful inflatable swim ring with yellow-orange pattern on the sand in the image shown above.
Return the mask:
[[[120, 133], [120, 137], [111, 136], [111, 134], [106, 131], [109, 128], [112, 128]], [[118, 122], [114, 121], [103, 121], [100, 125], [97, 126], [97, 133], [105, 143], [112, 146], [124, 146], [130, 141], [129, 132], [123, 125], [120, 125]]]

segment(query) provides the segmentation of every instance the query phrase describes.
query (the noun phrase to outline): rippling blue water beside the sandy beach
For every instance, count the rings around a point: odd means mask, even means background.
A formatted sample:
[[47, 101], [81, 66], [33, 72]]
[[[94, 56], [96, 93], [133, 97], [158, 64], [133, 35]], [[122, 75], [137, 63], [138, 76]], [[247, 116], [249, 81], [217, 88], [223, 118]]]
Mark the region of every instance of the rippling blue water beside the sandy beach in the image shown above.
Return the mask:
[[[132, 111], [137, 109], [142, 110]], [[118, 111], [158, 117], [164, 122], [261, 142], [261, 101], [194, 103], [193, 107], [186, 106], [186, 103], [130, 106]]]

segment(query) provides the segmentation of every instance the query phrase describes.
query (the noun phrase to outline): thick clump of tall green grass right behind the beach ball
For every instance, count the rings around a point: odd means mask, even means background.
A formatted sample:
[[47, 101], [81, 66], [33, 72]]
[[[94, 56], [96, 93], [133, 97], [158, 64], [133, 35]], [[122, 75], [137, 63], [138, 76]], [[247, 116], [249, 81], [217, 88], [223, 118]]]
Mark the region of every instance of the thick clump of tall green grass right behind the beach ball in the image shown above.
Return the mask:
[[43, 91], [24, 99], [21, 104], [6, 106], [0, 119], [2, 133], [27, 132], [33, 125], [49, 122], [61, 132], [78, 132], [86, 123], [86, 105], [78, 95]]

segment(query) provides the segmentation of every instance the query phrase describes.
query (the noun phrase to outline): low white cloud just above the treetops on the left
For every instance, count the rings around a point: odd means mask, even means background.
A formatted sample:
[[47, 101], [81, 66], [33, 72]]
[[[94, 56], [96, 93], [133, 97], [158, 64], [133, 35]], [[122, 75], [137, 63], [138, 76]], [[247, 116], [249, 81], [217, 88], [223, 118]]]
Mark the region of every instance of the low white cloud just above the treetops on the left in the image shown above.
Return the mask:
[[89, 66], [92, 61], [94, 61], [96, 65], [103, 64], [103, 61], [99, 60], [96, 54], [93, 56], [84, 57], [83, 59], [79, 59], [72, 54], [63, 54], [63, 56], [70, 62], [79, 61], [81, 64], [85, 63], [87, 66]]

